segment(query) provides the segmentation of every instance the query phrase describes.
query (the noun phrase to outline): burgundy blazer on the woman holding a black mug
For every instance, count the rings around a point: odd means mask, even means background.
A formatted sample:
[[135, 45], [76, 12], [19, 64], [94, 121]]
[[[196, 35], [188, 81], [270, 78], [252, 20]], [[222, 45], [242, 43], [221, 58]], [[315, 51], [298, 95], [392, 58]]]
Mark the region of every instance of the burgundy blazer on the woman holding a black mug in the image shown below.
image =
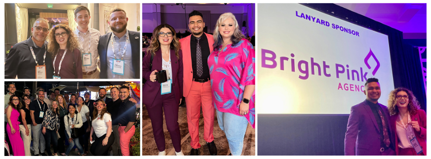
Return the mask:
[[[152, 68], [150, 70], [150, 59], [151, 55], [148, 52], [148, 55], [145, 55], [142, 60], [142, 78], [147, 81], [144, 84], [144, 88], [142, 90], [142, 102], [145, 104], [145, 107], [152, 108], [152, 105], [155, 96], [160, 94], [161, 84], [157, 81], [151, 82], [149, 80], [149, 76], [154, 70], [162, 70], [162, 50], [159, 49], [155, 51], [155, 55], [152, 60]], [[180, 99], [182, 98], [182, 87], [183, 87], [183, 66], [182, 66], [182, 51], [178, 51], [178, 55], [180, 56], [177, 59], [175, 56], [175, 50], [171, 49], [171, 67], [172, 67], [172, 76], [174, 77], [172, 81], [172, 93], [175, 93], [175, 99], [179, 104]]]

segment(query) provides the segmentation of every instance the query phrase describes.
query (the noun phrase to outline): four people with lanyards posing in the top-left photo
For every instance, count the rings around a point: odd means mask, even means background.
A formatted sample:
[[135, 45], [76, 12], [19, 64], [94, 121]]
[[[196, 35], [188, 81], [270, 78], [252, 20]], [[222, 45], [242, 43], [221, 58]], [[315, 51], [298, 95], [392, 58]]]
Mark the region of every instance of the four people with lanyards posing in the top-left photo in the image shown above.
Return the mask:
[[140, 35], [126, 29], [126, 11], [111, 11], [108, 23], [112, 32], [102, 36], [89, 28], [90, 18], [90, 10], [78, 6], [74, 10], [74, 31], [64, 24], [50, 29], [47, 20], [37, 19], [31, 27], [32, 35], [9, 51], [5, 78], [139, 78]]

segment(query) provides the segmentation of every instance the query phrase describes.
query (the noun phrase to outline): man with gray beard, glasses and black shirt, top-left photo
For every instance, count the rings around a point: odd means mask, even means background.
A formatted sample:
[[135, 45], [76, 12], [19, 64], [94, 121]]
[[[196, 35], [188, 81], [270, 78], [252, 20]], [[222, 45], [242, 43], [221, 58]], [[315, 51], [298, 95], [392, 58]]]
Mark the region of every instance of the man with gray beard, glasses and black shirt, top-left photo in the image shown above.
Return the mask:
[[9, 51], [5, 62], [6, 79], [35, 79], [36, 68], [39, 71], [37, 78], [52, 78], [54, 68], [46, 41], [49, 33], [48, 21], [37, 19], [31, 27], [31, 33], [27, 40], [19, 41]]

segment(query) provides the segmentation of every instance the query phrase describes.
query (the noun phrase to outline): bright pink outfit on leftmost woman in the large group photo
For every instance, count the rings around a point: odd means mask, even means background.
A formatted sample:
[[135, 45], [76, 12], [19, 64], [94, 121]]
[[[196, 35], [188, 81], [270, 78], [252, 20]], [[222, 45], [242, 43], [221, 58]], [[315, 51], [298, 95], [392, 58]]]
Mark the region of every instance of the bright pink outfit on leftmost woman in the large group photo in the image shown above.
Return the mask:
[[11, 113], [11, 122], [12, 126], [15, 129], [15, 133], [12, 134], [11, 127], [9, 126], [9, 123], [6, 127], [6, 131], [8, 131], [9, 140], [11, 141], [12, 151], [14, 152], [14, 156], [24, 156], [24, 142], [22, 141], [21, 134], [19, 132], [19, 112], [15, 109], [12, 109]]

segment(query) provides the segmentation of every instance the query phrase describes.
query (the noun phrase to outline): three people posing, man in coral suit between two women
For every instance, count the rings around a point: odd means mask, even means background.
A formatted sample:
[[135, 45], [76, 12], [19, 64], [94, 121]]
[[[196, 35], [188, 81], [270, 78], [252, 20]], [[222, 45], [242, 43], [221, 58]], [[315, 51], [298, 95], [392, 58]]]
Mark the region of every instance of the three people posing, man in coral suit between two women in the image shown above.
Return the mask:
[[[166, 155], [163, 112], [176, 155], [183, 155], [178, 125], [178, 105], [183, 96], [187, 103], [190, 155], [199, 155], [201, 147], [201, 108], [204, 139], [211, 155], [217, 155], [213, 135], [215, 114], [232, 155], [241, 155], [247, 125], [254, 128], [253, 45], [245, 39], [231, 13], [220, 16], [213, 35], [204, 33], [204, 27], [202, 13], [198, 11], [188, 15], [192, 34], [180, 40], [172, 26], [159, 25], [143, 58], [142, 76], [147, 81], [142, 100], [151, 119], [159, 155]], [[162, 76], [164, 73], [166, 76]]]

